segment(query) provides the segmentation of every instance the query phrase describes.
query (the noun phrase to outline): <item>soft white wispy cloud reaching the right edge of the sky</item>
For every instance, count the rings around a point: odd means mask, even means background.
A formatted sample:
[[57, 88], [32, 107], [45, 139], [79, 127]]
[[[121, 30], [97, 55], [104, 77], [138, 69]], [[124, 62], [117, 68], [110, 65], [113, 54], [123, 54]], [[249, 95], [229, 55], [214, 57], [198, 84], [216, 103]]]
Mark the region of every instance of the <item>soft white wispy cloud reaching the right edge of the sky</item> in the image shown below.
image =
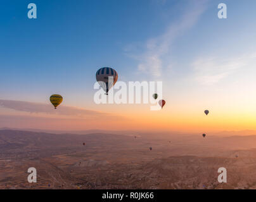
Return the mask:
[[255, 62], [256, 52], [229, 59], [204, 56], [193, 62], [193, 76], [203, 85], [213, 85], [238, 69], [246, 68]]

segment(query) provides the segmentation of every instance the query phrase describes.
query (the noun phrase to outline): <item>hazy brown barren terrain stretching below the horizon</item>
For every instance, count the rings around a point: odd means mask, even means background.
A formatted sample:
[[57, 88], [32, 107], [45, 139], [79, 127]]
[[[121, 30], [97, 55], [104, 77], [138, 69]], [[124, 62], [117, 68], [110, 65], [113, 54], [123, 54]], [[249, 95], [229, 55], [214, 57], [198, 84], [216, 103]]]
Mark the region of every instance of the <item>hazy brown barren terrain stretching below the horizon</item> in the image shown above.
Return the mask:
[[0, 189], [256, 189], [256, 136], [134, 136], [0, 130]]

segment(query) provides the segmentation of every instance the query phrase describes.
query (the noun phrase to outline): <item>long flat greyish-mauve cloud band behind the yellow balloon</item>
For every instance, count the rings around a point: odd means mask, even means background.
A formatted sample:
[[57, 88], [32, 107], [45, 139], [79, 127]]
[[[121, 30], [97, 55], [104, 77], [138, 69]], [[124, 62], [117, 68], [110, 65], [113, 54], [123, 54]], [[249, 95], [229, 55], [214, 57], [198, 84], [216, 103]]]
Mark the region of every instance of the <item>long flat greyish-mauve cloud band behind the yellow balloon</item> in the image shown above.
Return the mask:
[[98, 112], [95, 110], [80, 109], [78, 107], [68, 107], [60, 105], [57, 110], [54, 110], [50, 104], [41, 104], [35, 102], [25, 102], [18, 100], [0, 100], [0, 107], [7, 109], [13, 109], [22, 112], [30, 113], [45, 113], [45, 114], [59, 114], [61, 116], [76, 116], [76, 117], [91, 117], [91, 118], [108, 118], [120, 119], [122, 117], [116, 116], [114, 114], [107, 114], [103, 112]]

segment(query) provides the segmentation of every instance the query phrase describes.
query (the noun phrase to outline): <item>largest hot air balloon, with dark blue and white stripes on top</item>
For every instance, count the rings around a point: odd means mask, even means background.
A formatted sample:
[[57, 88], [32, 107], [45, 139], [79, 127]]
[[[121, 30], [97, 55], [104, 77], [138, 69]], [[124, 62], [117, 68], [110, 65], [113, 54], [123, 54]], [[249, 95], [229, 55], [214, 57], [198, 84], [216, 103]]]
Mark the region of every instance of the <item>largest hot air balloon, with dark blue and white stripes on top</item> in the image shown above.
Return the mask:
[[96, 72], [96, 80], [98, 81], [99, 85], [103, 90], [106, 92], [106, 95], [108, 95], [108, 91], [110, 88], [115, 85], [118, 79], [118, 74], [115, 69], [112, 68], [100, 68]]

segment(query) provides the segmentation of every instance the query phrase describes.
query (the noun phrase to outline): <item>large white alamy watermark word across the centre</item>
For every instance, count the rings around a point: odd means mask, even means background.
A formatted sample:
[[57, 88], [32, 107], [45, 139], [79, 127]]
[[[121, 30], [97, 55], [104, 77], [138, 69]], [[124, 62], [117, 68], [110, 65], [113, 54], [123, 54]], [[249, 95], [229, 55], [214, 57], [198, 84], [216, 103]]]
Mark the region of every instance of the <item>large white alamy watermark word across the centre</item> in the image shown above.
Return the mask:
[[[108, 84], [113, 83], [113, 76], [108, 77]], [[162, 100], [162, 81], [117, 81], [106, 93], [106, 82], [94, 83], [94, 102], [96, 104], [152, 104], [150, 110], [160, 110]], [[157, 93], [157, 99], [153, 95]]]

